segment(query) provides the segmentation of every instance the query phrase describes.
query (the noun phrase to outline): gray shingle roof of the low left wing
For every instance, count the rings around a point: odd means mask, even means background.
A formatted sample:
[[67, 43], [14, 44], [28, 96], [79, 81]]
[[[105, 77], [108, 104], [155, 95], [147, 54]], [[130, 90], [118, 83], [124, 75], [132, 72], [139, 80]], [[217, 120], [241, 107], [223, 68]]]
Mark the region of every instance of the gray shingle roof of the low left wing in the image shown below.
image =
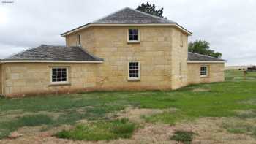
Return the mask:
[[37, 48], [23, 51], [15, 54], [4, 61], [12, 60], [39, 60], [39, 61], [103, 61], [102, 58], [97, 58], [87, 53], [80, 47], [66, 47], [57, 45], [41, 45]]

